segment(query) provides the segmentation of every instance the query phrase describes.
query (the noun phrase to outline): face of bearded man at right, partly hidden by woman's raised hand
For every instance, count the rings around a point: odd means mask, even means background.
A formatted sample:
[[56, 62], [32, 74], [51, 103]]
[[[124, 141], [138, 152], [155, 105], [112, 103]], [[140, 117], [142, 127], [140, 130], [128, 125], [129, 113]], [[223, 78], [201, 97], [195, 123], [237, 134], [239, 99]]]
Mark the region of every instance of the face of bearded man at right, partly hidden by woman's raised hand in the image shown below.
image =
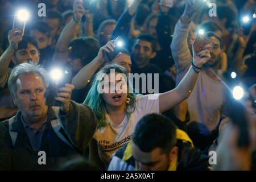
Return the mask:
[[209, 67], [216, 67], [221, 60], [220, 40], [214, 36], [211, 36], [209, 39], [213, 42], [213, 46], [210, 48], [210, 59], [205, 64]]

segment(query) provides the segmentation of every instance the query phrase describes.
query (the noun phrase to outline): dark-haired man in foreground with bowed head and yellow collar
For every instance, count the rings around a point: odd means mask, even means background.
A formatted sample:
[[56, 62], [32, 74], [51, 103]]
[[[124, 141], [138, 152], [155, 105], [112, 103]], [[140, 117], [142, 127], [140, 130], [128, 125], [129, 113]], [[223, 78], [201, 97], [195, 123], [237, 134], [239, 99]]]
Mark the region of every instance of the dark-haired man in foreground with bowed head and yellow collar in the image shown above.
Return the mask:
[[208, 170], [207, 156], [193, 147], [188, 135], [160, 114], [145, 115], [136, 125], [133, 141], [113, 156], [109, 171]]

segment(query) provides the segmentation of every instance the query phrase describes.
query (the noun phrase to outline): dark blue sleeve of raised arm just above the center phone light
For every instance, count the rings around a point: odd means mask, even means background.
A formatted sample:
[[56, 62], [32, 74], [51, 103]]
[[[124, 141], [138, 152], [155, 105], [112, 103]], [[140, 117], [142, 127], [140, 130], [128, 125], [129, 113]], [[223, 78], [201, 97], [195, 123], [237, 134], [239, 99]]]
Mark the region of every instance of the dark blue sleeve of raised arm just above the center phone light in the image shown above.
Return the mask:
[[126, 9], [125, 12], [123, 12], [123, 14], [117, 20], [117, 24], [112, 32], [110, 40], [116, 39], [118, 36], [121, 36], [124, 42], [128, 42], [132, 18], [133, 16], [131, 16], [128, 9]]

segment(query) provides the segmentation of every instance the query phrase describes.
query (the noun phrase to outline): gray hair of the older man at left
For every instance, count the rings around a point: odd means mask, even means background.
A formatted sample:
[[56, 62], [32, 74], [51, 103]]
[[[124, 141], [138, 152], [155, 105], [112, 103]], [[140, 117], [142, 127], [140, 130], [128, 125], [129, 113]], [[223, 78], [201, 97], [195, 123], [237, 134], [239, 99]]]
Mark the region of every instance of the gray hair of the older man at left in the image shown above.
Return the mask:
[[32, 61], [24, 62], [21, 64], [16, 65], [14, 67], [13, 71], [11, 71], [9, 80], [8, 80], [8, 86], [11, 92], [11, 95], [13, 97], [16, 97], [16, 80], [19, 77], [19, 75], [22, 75], [24, 73], [38, 73], [43, 79], [44, 86], [48, 86], [48, 76], [47, 72], [44, 68], [42, 68], [39, 64], [36, 64]]

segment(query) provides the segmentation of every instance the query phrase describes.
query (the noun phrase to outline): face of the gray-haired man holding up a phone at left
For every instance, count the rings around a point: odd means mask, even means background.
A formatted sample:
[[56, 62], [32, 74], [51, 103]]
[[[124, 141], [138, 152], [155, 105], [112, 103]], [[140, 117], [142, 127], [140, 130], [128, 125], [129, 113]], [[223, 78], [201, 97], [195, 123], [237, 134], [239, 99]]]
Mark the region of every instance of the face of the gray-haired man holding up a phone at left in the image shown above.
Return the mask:
[[45, 92], [46, 86], [38, 73], [24, 73], [18, 76], [14, 102], [23, 117], [38, 121], [47, 114]]

